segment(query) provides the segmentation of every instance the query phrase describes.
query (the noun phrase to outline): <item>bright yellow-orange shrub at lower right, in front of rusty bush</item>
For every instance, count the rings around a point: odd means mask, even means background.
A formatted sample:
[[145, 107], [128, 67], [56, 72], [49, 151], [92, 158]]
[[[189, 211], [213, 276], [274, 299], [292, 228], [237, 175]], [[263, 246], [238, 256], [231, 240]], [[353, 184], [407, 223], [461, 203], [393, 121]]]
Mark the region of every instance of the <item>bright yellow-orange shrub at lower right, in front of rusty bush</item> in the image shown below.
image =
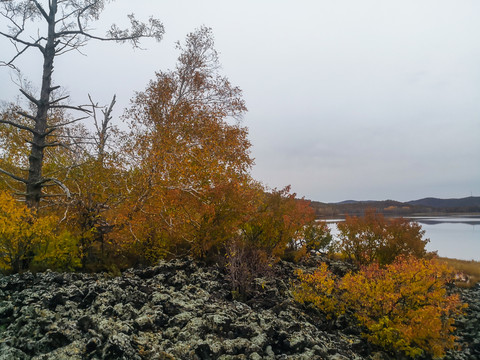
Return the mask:
[[336, 279], [325, 264], [314, 274], [298, 273], [299, 302], [329, 316], [352, 313], [373, 344], [415, 358], [441, 357], [455, 347], [454, 320], [462, 313], [458, 295], [449, 295], [451, 269], [436, 260], [399, 257], [384, 268], [371, 264]]

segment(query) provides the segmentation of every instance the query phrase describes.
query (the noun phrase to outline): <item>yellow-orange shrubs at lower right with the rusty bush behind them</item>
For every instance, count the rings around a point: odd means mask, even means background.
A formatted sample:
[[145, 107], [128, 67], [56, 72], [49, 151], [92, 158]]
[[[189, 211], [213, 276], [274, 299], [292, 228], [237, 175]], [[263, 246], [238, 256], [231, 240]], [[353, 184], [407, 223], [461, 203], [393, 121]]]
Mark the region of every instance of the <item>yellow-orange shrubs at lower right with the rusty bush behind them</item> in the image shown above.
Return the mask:
[[454, 321], [464, 305], [447, 292], [454, 271], [428, 254], [420, 225], [374, 210], [338, 224], [336, 250], [359, 266], [343, 278], [322, 264], [298, 271], [294, 297], [328, 318], [347, 314], [372, 344], [411, 358], [441, 357], [455, 346]]

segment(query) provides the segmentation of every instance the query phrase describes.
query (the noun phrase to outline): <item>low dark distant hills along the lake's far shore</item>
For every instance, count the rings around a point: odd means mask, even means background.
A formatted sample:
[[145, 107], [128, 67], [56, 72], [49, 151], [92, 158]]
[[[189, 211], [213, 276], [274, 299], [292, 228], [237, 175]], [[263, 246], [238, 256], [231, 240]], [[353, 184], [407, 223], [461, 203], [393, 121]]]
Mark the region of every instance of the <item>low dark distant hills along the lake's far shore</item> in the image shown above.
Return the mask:
[[480, 213], [480, 197], [474, 196], [462, 199], [424, 198], [408, 202], [346, 200], [338, 203], [322, 203], [312, 201], [311, 205], [319, 218], [363, 215], [368, 208], [373, 208], [386, 216]]

